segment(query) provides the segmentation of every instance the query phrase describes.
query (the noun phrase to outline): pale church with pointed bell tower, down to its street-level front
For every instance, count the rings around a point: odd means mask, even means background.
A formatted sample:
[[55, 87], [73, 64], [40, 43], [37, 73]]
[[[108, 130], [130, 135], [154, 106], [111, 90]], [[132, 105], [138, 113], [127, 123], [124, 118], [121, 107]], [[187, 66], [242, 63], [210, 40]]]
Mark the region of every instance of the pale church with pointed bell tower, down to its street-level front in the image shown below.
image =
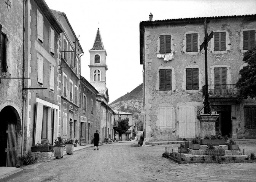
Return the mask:
[[95, 41], [90, 53], [90, 83], [99, 94], [96, 96], [96, 124], [94, 126], [99, 130], [100, 141], [108, 138], [112, 133], [111, 123], [113, 123], [114, 112], [108, 107], [109, 97], [106, 87], [106, 63], [107, 51], [104, 49], [100, 30], [97, 30]]

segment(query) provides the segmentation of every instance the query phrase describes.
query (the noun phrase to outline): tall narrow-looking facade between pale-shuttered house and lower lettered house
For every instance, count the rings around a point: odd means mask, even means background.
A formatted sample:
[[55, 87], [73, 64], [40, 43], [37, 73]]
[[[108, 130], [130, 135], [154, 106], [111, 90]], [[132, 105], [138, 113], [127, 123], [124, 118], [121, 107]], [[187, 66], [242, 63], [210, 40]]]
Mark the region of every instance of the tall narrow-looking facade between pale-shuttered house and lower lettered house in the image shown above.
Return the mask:
[[[63, 27], [59, 39], [59, 107], [58, 135], [80, 139], [80, 55], [83, 49], [65, 13], [51, 10]], [[76, 42], [76, 43], [74, 43]], [[61, 98], [61, 99], [60, 99]]]

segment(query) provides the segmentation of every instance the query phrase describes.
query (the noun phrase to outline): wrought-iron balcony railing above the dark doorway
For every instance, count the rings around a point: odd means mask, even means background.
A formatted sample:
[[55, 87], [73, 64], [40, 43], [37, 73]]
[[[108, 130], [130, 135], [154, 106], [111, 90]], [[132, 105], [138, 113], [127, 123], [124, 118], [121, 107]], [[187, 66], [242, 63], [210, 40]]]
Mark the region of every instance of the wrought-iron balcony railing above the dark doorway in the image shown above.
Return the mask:
[[[235, 96], [238, 94], [236, 84], [208, 85], [209, 96]], [[203, 86], [203, 96], [205, 96], [205, 85]]]

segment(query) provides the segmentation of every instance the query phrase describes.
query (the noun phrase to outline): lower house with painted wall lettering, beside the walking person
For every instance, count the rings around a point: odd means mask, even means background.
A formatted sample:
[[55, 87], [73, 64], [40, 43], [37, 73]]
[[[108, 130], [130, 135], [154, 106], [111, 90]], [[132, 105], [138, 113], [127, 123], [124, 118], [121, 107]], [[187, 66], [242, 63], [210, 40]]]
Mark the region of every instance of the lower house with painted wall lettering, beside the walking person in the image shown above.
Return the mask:
[[80, 144], [91, 144], [97, 130], [96, 95], [99, 93], [84, 77], [80, 77]]

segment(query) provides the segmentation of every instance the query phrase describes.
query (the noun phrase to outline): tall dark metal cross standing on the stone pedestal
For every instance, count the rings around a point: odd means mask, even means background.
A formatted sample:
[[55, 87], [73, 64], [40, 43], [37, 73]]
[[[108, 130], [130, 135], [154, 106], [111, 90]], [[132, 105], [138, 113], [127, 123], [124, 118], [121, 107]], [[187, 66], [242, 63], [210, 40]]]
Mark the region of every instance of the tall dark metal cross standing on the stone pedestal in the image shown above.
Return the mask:
[[204, 113], [210, 114], [211, 108], [209, 103], [209, 93], [208, 93], [208, 67], [207, 67], [207, 46], [208, 42], [213, 38], [213, 31], [211, 31], [210, 35], [207, 34], [207, 24], [206, 18], [204, 22], [204, 42], [200, 45], [200, 51], [204, 48], [205, 50], [205, 102], [204, 102]]

